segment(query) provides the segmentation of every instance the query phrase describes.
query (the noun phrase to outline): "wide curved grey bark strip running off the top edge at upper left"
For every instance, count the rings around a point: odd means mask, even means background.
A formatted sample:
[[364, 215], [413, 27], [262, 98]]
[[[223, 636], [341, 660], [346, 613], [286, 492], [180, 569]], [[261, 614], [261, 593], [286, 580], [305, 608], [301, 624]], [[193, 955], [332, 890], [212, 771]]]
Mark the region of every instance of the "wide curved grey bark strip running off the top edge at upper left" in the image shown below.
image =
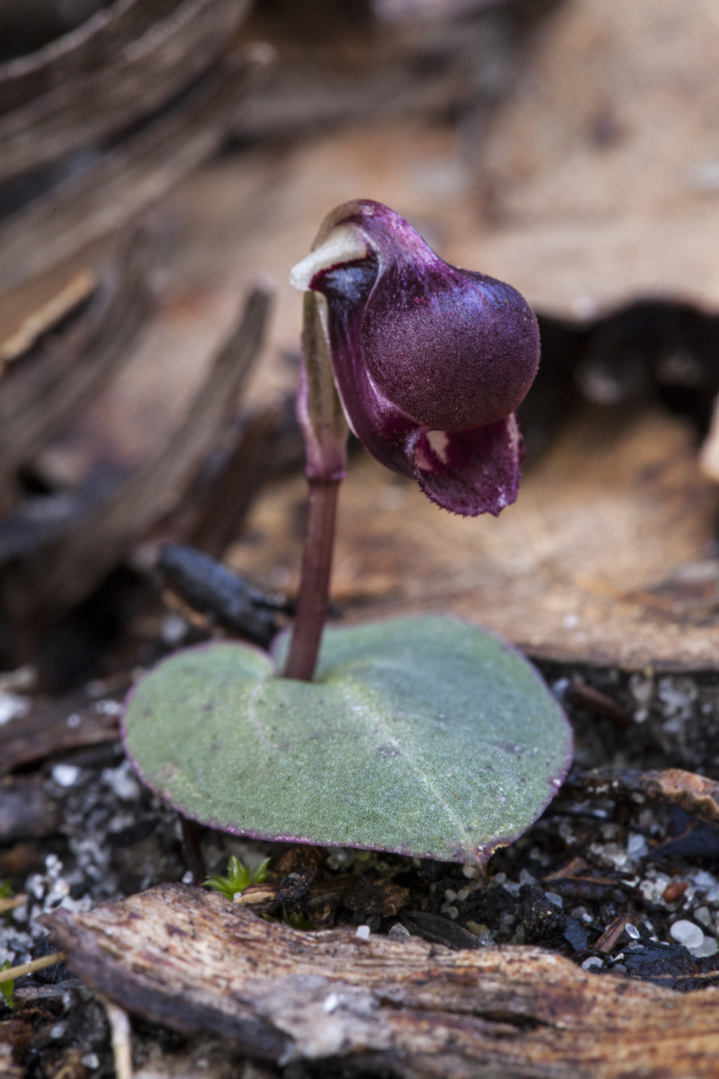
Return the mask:
[[[22, 80], [9, 79], [8, 69], [12, 64], [15, 69], [22, 67], [23, 59], [2, 65], [0, 107], [5, 104], [5, 109], [0, 115], [0, 180], [98, 146], [160, 109], [217, 59], [248, 5], [248, 0], [134, 3], [126, 14], [142, 14], [146, 25], [138, 26], [133, 40], [110, 53], [105, 42], [106, 47], [98, 50], [103, 58], [99, 64], [99, 56], [86, 49], [84, 63], [75, 57], [61, 83], [11, 111], [6, 110], [9, 91], [12, 85], [17, 92]], [[117, 22], [115, 31], [121, 30]], [[55, 51], [60, 49], [55, 42]], [[27, 80], [25, 88], [29, 88]]]

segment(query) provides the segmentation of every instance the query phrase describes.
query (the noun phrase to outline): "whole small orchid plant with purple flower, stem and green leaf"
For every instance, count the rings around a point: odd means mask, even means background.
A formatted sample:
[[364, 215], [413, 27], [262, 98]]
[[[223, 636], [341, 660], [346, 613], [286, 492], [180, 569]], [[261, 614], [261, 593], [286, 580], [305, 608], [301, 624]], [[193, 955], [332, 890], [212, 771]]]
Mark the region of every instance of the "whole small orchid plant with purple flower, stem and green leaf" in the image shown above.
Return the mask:
[[294, 627], [269, 655], [215, 642], [164, 660], [128, 699], [125, 748], [149, 787], [215, 828], [485, 866], [567, 774], [559, 705], [473, 623], [324, 619], [350, 427], [438, 506], [496, 516], [517, 495], [537, 319], [369, 200], [326, 218], [290, 281], [304, 291], [309, 491]]

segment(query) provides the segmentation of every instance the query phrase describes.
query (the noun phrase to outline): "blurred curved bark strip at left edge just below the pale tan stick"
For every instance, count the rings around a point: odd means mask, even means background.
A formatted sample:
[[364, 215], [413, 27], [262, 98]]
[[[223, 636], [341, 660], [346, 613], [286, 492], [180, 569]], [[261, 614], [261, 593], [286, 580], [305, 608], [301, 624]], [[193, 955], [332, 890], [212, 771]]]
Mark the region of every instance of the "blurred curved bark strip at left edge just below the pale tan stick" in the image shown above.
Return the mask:
[[0, 380], [5, 475], [29, 462], [129, 358], [153, 308], [148, 259], [147, 238], [135, 231], [107, 267], [86, 310]]

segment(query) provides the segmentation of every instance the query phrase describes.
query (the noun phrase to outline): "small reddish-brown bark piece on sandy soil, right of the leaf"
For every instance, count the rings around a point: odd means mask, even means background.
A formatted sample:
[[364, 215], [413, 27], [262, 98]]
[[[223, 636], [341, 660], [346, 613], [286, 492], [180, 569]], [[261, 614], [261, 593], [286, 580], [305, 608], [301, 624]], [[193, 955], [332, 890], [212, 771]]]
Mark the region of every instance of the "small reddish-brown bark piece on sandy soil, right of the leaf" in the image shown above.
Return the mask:
[[719, 828], [719, 783], [682, 768], [638, 771], [632, 768], [594, 768], [572, 781], [587, 793], [668, 803], [707, 824]]

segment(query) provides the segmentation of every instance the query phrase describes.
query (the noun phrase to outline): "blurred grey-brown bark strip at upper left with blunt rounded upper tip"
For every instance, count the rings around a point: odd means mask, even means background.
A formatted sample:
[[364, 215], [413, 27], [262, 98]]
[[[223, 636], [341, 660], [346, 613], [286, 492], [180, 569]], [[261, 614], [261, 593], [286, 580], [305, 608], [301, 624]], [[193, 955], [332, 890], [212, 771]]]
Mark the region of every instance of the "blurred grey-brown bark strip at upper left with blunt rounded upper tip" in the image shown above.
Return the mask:
[[9, 217], [0, 228], [0, 291], [117, 231], [215, 153], [264, 63], [257, 49], [225, 57], [168, 113]]

